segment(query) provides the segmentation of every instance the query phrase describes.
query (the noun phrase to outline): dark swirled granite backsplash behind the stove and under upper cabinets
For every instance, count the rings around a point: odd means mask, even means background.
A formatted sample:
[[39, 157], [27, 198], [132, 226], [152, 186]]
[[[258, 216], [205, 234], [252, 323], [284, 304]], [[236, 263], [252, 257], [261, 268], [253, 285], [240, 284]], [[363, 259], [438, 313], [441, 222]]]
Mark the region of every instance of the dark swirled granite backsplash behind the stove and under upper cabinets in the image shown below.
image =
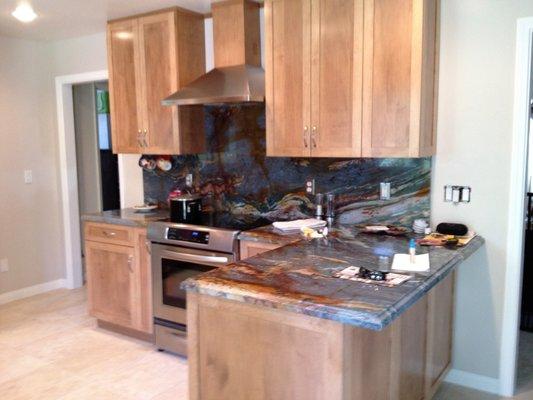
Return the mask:
[[[343, 223], [411, 225], [429, 218], [430, 158], [334, 159], [266, 157], [264, 105], [205, 107], [207, 152], [173, 156], [168, 172], [144, 171], [146, 202], [167, 203], [174, 188], [194, 176], [194, 191], [216, 211], [270, 219], [313, 215], [304, 184], [314, 178], [319, 193], [336, 195]], [[379, 183], [392, 197], [379, 199]]]

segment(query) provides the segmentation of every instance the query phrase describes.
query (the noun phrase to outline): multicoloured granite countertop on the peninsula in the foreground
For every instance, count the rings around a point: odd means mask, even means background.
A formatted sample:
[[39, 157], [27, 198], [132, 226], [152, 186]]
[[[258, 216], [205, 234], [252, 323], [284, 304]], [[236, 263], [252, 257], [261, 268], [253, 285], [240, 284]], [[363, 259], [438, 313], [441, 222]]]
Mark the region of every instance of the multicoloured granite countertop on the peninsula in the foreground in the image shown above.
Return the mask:
[[[256, 230], [256, 240], [259, 240], [258, 232], [272, 233]], [[244, 234], [245, 240], [249, 240], [249, 235], [250, 232]], [[408, 238], [369, 235], [356, 228], [337, 227], [327, 239], [293, 241], [279, 249], [190, 278], [182, 287], [201, 294], [382, 330], [483, 243], [484, 239], [478, 236], [457, 250], [419, 247], [419, 254], [429, 253], [430, 271], [411, 273], [410, 280], [390, 288], [333, 275], [350, 265], [386, 271], [395, 253], [407, 253]]]

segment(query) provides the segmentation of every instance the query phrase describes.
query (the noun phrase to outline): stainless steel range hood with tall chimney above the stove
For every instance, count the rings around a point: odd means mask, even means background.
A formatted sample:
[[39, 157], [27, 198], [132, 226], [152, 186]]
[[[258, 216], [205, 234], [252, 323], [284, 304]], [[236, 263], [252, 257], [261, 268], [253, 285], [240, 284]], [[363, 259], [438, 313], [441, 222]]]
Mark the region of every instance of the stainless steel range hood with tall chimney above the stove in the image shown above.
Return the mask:
[[162, 101], [163, 105], [263, 102], [259, 4], [224, 0], [211, 4], [215, 68]]

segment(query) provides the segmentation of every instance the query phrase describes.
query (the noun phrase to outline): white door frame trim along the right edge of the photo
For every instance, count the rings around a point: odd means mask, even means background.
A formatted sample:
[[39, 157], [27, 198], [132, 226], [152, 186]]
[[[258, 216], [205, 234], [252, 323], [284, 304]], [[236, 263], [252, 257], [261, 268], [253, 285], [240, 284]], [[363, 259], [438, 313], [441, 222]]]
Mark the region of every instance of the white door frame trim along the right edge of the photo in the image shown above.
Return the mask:
[[520, 332], [522, 269], [524, 258], [524, 211], [527, 176], [531, 79], [533, 67], [533, 17], [517, 21], [515, 95], [511, 180], [509, 188], [509, 227], [507, 269], [500, 347], [500, 395], [513, 396]]

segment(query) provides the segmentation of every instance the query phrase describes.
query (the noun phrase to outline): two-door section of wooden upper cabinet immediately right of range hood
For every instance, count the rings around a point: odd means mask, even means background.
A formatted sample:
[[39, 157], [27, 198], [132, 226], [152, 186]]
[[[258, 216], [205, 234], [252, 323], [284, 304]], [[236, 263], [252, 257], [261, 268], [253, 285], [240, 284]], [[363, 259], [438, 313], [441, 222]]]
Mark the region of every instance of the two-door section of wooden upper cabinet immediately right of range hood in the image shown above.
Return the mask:
[[267, 154], [361, 153], [363, 0], [265, 3]]

